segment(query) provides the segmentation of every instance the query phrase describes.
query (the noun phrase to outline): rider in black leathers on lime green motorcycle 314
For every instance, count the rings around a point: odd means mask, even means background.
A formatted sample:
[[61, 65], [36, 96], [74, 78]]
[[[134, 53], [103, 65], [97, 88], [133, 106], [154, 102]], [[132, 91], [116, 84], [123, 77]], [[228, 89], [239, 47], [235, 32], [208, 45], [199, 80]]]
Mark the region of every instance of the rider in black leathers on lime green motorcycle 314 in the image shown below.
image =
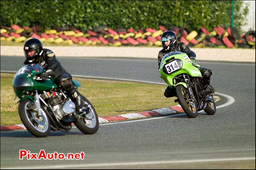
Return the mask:
[[[190, 48], [183, 42], [177, 42], [176, 34], [172, 31], [165, 31], [161, 36], [161, 42], [163, 49], [158, 53], [158, 69], [160, 68], [160, 63], [164, 55], [173, 52], [180, 51], [186, 53], [188, 57], [191, 59], [192, 63], [196, 62], [196, 54], [190, 50]], [[215, 89], [210, 85], [210, 77], [212, 75], [212, 70], [208, 70], [203, 67], [198, 67], [193, 64], [194, 67], [198, 68], [203, 76], [202, 81], [204, 85], [208, 85], [210, 89], [210, 93], [214, 93]], [[164, 96], [174, 97], [176, 96], [175, 89], [171, 89], [169, 86], [165, 89]]]

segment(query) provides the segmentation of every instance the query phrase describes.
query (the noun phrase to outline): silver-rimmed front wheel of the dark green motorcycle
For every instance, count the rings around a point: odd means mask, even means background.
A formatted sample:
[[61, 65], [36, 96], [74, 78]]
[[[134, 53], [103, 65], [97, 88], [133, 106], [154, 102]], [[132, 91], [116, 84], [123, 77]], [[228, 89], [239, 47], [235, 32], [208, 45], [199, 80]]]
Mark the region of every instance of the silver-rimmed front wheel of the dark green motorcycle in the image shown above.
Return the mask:
[[48, 115], [41, 108], [41, 115], [33, 109], [33, 102], [29, 99], [22, 100], [19, 104], [19, 115], [22, 123], [36, 137], [47, 137], [51, 131]]

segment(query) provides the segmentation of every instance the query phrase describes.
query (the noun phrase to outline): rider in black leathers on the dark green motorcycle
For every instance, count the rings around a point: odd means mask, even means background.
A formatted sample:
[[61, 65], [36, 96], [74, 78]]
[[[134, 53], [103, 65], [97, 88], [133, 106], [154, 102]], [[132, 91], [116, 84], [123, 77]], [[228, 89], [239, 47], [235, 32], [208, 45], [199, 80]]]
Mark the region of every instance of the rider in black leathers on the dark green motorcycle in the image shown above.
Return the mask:
[[26, 56], [24, 65], [36, 63], [40, 64], [44, 70], [49, 70], [49, 72], [42, 73], [40, 78], [43, 80], [49, 78], [49, 76], [56, 78], [54, 83], [72, 95], [76, 99], [77, 112], [82, 111], [84, 99], [74, 87], [72, 76], [62, 68], [54, 53], [49, 49], [43, 48], [41, 41], [36, 38], [26, 41], [23, 50]]

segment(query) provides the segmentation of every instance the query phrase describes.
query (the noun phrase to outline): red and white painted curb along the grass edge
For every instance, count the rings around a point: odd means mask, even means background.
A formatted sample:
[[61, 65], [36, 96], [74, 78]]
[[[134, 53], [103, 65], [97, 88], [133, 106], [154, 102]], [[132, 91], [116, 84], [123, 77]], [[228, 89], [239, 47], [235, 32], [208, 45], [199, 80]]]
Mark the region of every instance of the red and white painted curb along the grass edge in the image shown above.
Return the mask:
[[[146, 118], [146, 117], [155, 117], [155, 116], [163, 116], [169, 115], [174, 113], [184, 112], [180, 105], [172, 106], [172, 107], [164, 107], [155, 110], [149, 110], [145, 112], [139, 113], [127, 113], [123, 115], [114, 115], [114, 116], [102, 116], [99, 117], [99, 123], [107, 123], [107, 122], [116, 122], [116, 121], [123, 121], [129, 119], [138, 119], [138, 118]], [[9, 131], [9, 130], [26, 130], [26, 127], [23, 124], [15, 124], [15, 125], [6, 125], [1, 126], [2, 131]]]

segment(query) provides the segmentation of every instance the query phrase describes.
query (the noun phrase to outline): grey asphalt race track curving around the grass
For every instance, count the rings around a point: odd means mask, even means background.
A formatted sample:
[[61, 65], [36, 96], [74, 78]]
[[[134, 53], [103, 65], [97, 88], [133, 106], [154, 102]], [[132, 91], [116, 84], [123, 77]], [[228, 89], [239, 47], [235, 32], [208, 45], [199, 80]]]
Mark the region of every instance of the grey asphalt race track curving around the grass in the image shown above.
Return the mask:
[[[58, 57], [72, 75], [159, 83], [157, 60]], [[1, 71], [17, 71], [24, 57], [1, 56]], [[28, 131], [1, 132], [1, 169], [152, 168], [255, 169], [255, 63], [198, 63], [212, 69], [216, 92], [235, 99], [215, 115], [185, 114], [101, 124], [94, 135], [78, 129], [51, 132], [46, 138]], [[163, 83], [163, 82], [162, 82]], [[163, 86], [163, 89], [165, 86]], [[149, 94], [150, 95], [150, 94]], [[162, 95], [162, 94], [161, 94]], [[164, 96], [163, 96], [164, 97]], [[222, 100], [217, 106], [225, 104]], [[143, 120], [143, 121], [142, 121]], [[80, 153], [84, 160], [19, 160], [19, 150]]]

